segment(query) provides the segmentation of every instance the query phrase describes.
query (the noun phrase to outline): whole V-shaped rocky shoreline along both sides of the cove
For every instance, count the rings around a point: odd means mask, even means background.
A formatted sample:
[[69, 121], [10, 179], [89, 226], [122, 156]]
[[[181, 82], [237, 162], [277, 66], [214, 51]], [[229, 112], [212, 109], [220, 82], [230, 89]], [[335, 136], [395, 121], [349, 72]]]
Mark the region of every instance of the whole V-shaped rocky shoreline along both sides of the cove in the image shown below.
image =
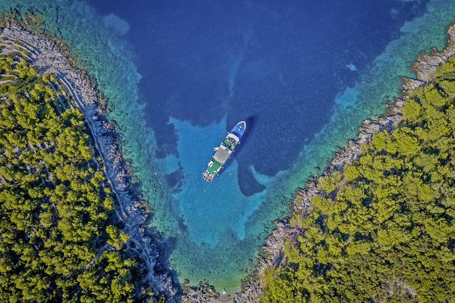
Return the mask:
[[[393, 105], [387, 105], [387, 116], [377, 121], [367, 119], [358, 128], [356, 140], [350, 140], [345, 149], [340, 150], [325, 168], [324, 174], [333, 171], [342, 171], [346, 163], [356, 161], [360, 155], [360, 145], [371, 140], [373, 134], [386, 130], [391, 132], [401, 121], [400, 111], [403, 107], [403, 97], [419, 86], [431, 82], [435, 75], [436, 67], [447, 58], [455, 55], [455, 26], [447, 29], [449, 39], [442, 52], [436, 49], [429, 54], [422, 53], [417, 56], [417, 61], [411, 66], [416, 73], [416, 79], [403, 77], [402, 95], [394, 100]], [[293, 228], [288, 219], [276, 220], [275, 230], [265, 240], [262, 247], [263, 254], [258, 257], [258, 265], [254, 275], [247, 277], [242, 282], [242, 290], [228, 299], [219, 299], [219, 295], [209, 285], [201, 284], [197, 287], [184, 287], [182, 290], [170, 272], [156, 272], [155, 268], [165, 268], [160, 265], [158, 257], [160, 251], [152, 238], [147, 236], [146, 223], [148, 219], [147, 207], [135, 193], [133, 184], [128, 179], [128, 168], [121, 155], [121, 142], [115, 130], [115, 122], [107, 121], [103, 113], [105, 103], [100, 92], [96, 89], [95, 82], [88, 75], [73, 66], [71, 61], [62, 51], [58, 41], [43, 34], [32, 34], [19, 25], [11, 24], [7, 28], [0, 28], [0, 39], [19, 41], [23, 49], [28, 52], [32, 65], [40, 74], [56, 74], [59, 81], [66, 86], [66, 90], [73, 96], [75, 104], [84, 113], [86, 122], [96, 145], [96, 153], [103, 159], [104, 169], [108, 176], [113, 192], [117, 196], [119, 217], [125, 222], [125, 231], [130, 234], [135, 249], [145, 261], [149, 269], [149, 279], [156, 286], [156, 293], [166, 297], [167, 302], [222, 302], [232, 301], [257, 302], [264, 289], [264, 270], [280, 266], [284, 261], [283, 243], [296, 239], [301, 231]], [[307, 214], [310, 199], [320, 190], [314, 180], [309, 180], [304, 188], [296, 190], [293, 201], [294, 214]]]

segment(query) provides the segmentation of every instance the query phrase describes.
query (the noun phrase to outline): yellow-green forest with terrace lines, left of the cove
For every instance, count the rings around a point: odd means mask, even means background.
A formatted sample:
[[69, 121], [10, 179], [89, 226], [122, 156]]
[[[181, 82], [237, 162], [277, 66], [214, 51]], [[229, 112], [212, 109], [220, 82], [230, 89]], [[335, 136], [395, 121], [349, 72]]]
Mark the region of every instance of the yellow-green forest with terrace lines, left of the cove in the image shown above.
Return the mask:
[[0, 301], [146, 300], [82, 113], [16, 44], [0, 56]]

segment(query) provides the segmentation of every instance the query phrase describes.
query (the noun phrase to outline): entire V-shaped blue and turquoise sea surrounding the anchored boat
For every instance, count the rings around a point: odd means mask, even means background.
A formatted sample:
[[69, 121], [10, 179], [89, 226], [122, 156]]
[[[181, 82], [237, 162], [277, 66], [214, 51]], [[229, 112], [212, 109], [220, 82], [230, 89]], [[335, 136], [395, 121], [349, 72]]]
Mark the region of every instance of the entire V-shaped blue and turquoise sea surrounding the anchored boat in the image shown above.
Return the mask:
[[[453, 0], [0, 0], [9, 10], [37, 16], [97, 80], [164, 266], [222, 294], [254, 271], [296, 188], [384, 114], [455, 21]], [[246, 135], [206, 182], [241, 120]]]

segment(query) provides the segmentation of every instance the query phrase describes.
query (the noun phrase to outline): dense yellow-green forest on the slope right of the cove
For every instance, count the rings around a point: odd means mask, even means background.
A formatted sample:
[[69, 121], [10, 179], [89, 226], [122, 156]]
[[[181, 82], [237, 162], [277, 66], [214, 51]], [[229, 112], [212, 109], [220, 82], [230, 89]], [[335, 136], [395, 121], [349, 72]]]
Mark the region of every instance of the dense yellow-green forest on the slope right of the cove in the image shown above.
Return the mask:
[[402, 122], [358, 161], [318, 179], [264, 302], [455, 302], [454, 64], [404, 98]]

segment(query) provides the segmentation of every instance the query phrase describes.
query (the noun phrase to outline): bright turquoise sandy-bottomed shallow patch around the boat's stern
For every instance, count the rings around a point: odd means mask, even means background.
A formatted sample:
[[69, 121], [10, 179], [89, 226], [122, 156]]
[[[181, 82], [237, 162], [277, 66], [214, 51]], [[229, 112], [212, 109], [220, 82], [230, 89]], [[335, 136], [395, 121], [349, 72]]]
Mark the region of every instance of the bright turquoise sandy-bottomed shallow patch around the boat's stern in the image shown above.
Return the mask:
[[[180, 201], [181, 213], [192, 214], [191, 217], [184, 216], [191, 238], [211, 246], [224, 241], [225, 235], [243, 240], [247, 219], [259, 208], [260, 202], [265, 199], [265, 192], [258, 192], [250, 197], [240, 192], [238, 164], [235, 160], [231, 160], [229, 166], [226, 165], [222, 169], [221, 175], [228, 179], [227, 182], [207, 183], [201, 178], [201, 167], [207, 166], [207, 159], [213, 156], [212, 147], [219, 145], [218, 137], [224, 133], [225, 119], [206, 127], [193, 127], [188, 122], [173, 119], [170, 123], [175, 125], [179, 137], [178, 160], [185, 174], [186, 183], [183, 190], [173, 196]], [[195, 145], [198, 148], [191, 148]], [[207, 204], [207, 200], [211, 201], [210, 205]], [[218, 231], [207, 228], [207, 222], [210, 221], [217, 222]]]

